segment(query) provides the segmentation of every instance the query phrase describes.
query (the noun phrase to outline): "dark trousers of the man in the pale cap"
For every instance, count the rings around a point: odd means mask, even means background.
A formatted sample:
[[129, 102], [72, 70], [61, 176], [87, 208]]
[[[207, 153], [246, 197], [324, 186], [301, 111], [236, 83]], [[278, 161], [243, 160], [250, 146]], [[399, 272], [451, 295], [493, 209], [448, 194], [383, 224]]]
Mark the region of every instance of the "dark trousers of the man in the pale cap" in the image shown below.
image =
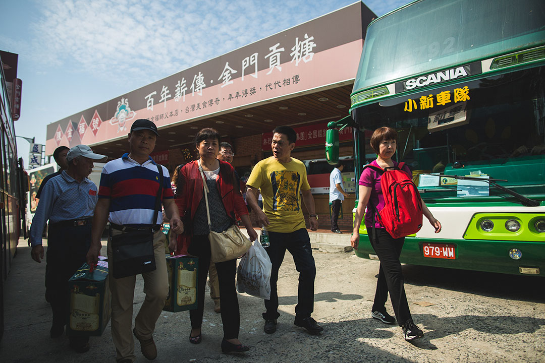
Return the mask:
[[70, 309], [68, 280], [86, 262], [91, 224], [49, 226], [45, 266], [45, 298], [53, 310], [53, 324], [65, 325]]

